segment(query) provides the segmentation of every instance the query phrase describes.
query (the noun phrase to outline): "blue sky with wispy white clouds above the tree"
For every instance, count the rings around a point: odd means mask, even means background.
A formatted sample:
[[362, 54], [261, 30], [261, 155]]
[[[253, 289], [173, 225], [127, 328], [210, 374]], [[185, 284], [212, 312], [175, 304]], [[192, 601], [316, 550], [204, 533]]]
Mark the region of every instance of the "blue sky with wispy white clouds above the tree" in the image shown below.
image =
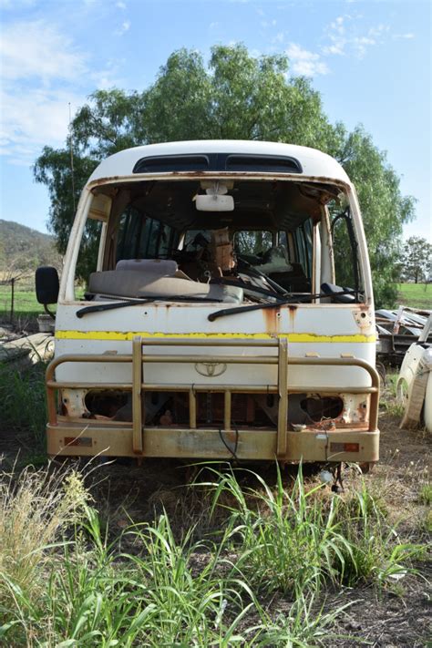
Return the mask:
[[285, 52], [332, 121], [362, 123], [417, 198], [406, 227], [432, 241], [429, 0], [0, 0], [1, 218], [46, 231], [49, 201], [31, 165], [60, 147], [96, 88], [147, 87], [170, 53], [209, 56], [243, 42]]

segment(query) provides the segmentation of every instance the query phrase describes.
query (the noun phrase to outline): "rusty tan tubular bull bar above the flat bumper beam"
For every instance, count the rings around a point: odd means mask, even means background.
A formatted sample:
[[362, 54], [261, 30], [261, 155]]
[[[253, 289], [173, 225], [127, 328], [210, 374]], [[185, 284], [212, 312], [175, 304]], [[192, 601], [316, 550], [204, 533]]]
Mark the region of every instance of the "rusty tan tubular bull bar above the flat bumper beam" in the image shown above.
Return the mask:
[[[229, 431], [231, 428], [231, 395], [234, 393], [242, 394], [265, 394], [273, 393], [279, 396], [278, 405], [278, 423], [276, 431], [276, 455], [277, 458], [283, 459], [287, 453], [287, 414], [288, 414], [288, 397], [289, 394], [313, 392], [321, 389], [325, 394], [340, 394], [343, 390], [350, 394], [368, 394], [370, 395], [369, 423], [368, 431], [375, 432], [377, 428], [378, 417], [378, 396], [379, 396], [379, 376], [375, 367], [369, 365], [365, 360], [355, 357], [291, 357], [288, 355], [288, 344], [286, 338], [274, 338], [272, 340], [257, 339], [239, 339], [239, 340], [220, 340], [218, 347], [271, 347], [277, 348], [277, 355], [176, 355], [176, 354], [149, 354], [145, 352], [145, 347], [162, 346], [162, 347], [214, 347], [215, 341], [212, 339], [145, 339], [139, 336], [135, 337], [132, 343], [131, 355], [60, 355], [55, 358], [46, 368], [46, 395], [48, 410], [48, 426], [58, 426], [56, 392], [58, 389], [116, 389], [130, 391], [132, 394], [132, 447], [137, 456], [145, 455], [145, 437], [146, 428], [143, 427], [145, 421], [144, 403], [142, 399], [143, 392], [146, 391], [181, 391], [189, 393], [189, 424], [190, 430], [197, 429], [197, 393], [199, 392], [220, 392], [224, 394], [224, 428]], [[71, 382], [57, 381], [55, 379], [55, 370], [57, 366], [66, 363], [131, 363], [132, 380], [130, 383], [98, 383], [98, 382]], [[254, 385], [247, 384], [153, 384], [146, 382], [145, 366], [148, 363], [158, 364], [180, 364], [180, 363], [218, 363], [218, 364], [235, 364], [235, 365], [277, 365], [277, 382], [274, 385]], [[289, 386], [288, 384], [288, 367], [290, 365], [302, 366], [357, 366], [365, 370], [370, 376], [371, 386], [344, 386], [344, 387], [314, 387], [314, 386]]]

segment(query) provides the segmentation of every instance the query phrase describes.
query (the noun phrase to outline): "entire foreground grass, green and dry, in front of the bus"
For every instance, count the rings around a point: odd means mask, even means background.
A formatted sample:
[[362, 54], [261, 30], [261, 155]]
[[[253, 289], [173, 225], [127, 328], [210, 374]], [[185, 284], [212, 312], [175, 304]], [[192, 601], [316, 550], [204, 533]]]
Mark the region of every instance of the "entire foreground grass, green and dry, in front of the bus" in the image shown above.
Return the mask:
[[[370, 493], [292, 489], [247, 471], [211, 470], [211, 516], [223, 530], [178, 539], [162, 512], [116, 538], [102, 531], [85, 476], [3, 475], [0, 642], [26, 646], [315, 646], [347, 604], [324, 611], [324, 586], [385, 587], [415, 551], [392, 533]], [[227, 502], [231, 504], [227, 505]], [[349, 578], [348, 578], [349, 576]], [[269, 607], [269, 595], [285, 605]], [[337, 638], [334, 637], [334, 641]]]

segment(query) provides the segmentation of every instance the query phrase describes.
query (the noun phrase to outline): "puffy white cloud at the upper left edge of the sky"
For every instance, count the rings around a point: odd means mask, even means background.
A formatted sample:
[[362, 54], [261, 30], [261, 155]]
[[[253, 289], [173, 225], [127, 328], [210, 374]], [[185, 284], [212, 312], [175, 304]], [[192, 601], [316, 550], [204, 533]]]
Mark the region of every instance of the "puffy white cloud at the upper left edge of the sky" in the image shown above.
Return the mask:
[[2, 77], [9, 80], [36, 77], [71, 80], [86, 69], [86, 56], [70, 38], [43, 20], [5, 26], [0, 42]]

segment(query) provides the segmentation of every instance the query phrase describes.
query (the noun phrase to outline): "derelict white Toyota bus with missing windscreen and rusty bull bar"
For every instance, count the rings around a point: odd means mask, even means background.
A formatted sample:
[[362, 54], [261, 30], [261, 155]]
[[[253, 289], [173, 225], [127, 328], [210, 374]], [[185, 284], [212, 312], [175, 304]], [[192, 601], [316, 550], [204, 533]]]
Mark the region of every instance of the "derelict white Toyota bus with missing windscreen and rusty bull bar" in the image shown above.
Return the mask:
[[[98, 259], [77, 297], [88, 219]], [[375, 462], [379, 381], [355, 189], [315, 150], [123, 150], [87, 181], [58, 290], [51, 456]]]

